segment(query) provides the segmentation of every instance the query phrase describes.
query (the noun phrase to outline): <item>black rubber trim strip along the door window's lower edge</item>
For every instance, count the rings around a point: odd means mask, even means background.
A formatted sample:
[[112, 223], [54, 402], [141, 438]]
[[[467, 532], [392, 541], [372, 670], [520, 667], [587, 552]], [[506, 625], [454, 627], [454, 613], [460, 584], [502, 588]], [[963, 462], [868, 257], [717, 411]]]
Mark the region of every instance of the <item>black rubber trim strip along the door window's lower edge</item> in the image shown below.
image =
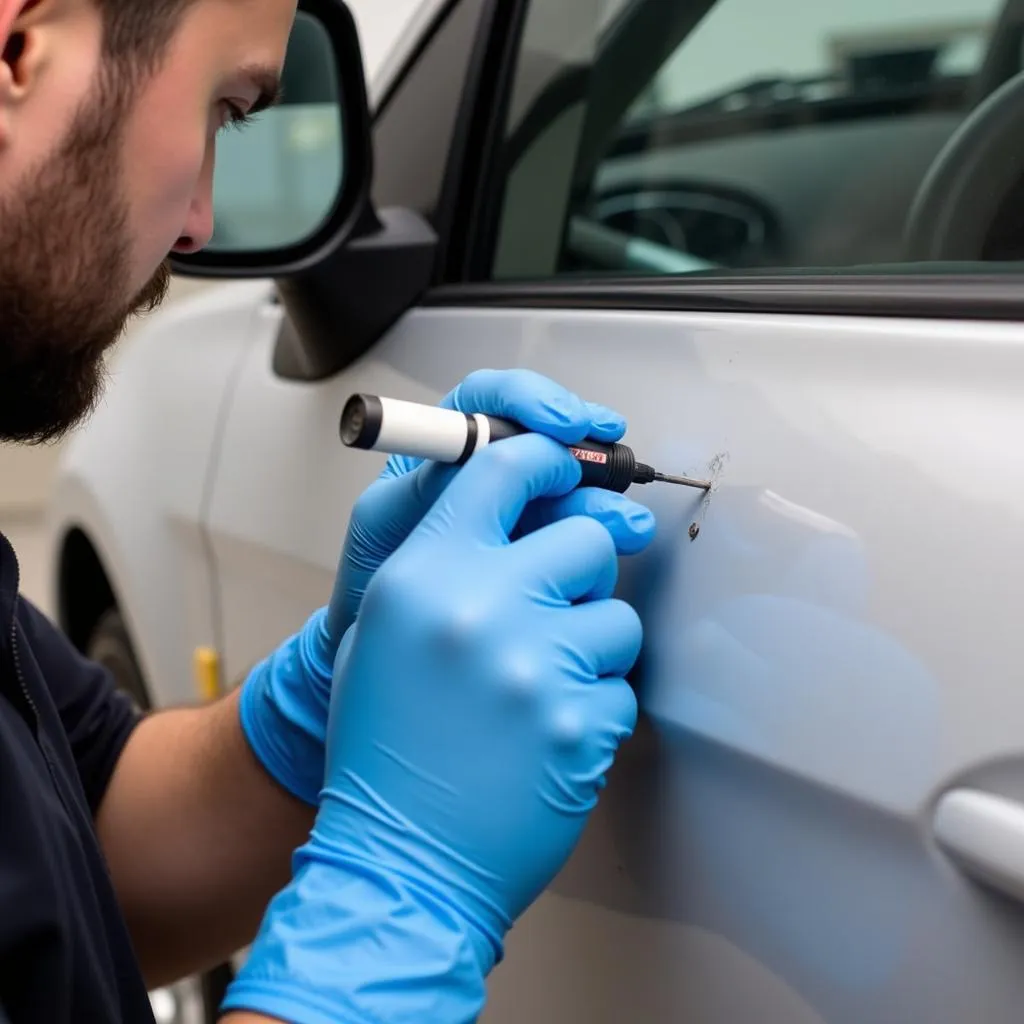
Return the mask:
[[734, 279], [559, 279], [442, 285], [426, 308], [794, 313], [914, 319], [1024, 321], [1021, 271], [751, 275]]

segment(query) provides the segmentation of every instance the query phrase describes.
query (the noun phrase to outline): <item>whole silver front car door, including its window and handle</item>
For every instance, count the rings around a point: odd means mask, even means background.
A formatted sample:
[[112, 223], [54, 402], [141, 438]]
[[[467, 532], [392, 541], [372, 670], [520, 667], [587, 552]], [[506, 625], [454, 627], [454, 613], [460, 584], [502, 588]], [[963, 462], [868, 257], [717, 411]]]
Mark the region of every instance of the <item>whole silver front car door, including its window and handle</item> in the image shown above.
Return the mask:
[[[236, 678], [328, 599], [383, 467], [338, 438], [353, 391], [434, 402], [530, 367], [622, 410], [644, 461], [715, 480], [636, 488], [659, 524], [620, 585], [640, 725], [513, 930], [487, 1024], [1020, 1019], [1024, 334], [977, 318], [1020, 306], [988, 250], [893, 263], [1013, 4], [948, 6], [464, 0], [375, 128], [376, 202], [431, 220], [442, 287], [330, 380], [276, 378], [284, 312], [261, 322], [208, 521]], [[653, 121], [620, 123], [641, 99]], [[675, 239], [700, 279], [571, 249], [609, 193], [680, 182], [765, 206], [778, 244], [689, 195], [602, 224]], [[765, 311], [682, 310], [702, 302]]]

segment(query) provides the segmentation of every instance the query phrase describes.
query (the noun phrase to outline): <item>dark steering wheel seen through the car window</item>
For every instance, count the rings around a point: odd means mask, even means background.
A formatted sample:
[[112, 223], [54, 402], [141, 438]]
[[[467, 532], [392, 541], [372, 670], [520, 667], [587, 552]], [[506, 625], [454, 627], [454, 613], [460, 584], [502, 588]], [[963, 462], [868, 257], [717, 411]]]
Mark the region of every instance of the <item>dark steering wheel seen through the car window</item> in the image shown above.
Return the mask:
[[1011, 188], [1024, 175], [1024, 72], [968, 115], [925, 175], [905, 232], [909, 262], [981, 258]]

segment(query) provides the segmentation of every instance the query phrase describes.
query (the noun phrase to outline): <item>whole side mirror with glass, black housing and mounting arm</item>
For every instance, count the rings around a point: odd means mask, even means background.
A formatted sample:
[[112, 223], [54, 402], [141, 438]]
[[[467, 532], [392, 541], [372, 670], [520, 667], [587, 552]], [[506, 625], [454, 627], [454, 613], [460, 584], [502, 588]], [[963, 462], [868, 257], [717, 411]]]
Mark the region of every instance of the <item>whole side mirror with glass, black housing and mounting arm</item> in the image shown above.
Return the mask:
[[283, 77], [278, 106], [218, 140], [213, 239], [171, 266], [275, 279], [289, 319], [274, 369], [314, 380], [365, 352], [416, 301], [437, 240], [412, 211], [373, 209], [362, 54], [342, 0], [299, 0]]

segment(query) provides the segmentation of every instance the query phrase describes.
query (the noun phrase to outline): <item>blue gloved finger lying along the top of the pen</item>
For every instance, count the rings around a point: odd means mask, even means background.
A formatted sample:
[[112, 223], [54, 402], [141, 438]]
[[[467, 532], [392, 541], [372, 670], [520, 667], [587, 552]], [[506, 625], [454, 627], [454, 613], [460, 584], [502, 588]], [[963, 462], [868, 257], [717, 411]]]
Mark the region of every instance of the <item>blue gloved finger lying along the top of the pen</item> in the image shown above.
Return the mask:
[[527, 430], [571, 442], [618, 440], [626, 420], [532, 370], [479, 370], [441, 399], [444, 409], [512, 420]]

